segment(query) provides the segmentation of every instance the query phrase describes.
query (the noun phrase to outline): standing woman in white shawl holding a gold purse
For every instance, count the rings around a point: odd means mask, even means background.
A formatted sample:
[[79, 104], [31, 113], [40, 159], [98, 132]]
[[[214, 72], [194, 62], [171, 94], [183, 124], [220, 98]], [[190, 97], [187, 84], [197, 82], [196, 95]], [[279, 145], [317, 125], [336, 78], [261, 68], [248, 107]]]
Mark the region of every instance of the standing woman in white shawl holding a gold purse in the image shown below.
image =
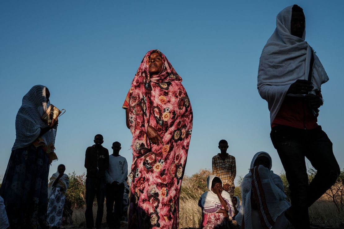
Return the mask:
[[56, 159], [57, 120], [41, 116], [49, 107], [50, 92], [43, 85], [26, 93], [15, 118], [15, 142], [0, 188], [11, 228], [46, 228], [49, 164]]

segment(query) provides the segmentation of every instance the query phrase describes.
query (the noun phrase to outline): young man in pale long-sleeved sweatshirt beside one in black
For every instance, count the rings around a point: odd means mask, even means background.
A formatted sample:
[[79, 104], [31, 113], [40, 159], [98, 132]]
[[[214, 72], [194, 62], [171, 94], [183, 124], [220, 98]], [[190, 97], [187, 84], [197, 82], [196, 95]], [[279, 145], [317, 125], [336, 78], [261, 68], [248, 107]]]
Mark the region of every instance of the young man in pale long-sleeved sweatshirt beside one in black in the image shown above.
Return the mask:
[[119, 228], [122, 213], [124, 182], [128, 176], [128, 163], [124, 157], [119, 155], [121, 144], [118, 141], [112, 143], [111, 148], [113, 153], [109, 156], [109, 169], [105, 171], [106, 221], [109, 228]]

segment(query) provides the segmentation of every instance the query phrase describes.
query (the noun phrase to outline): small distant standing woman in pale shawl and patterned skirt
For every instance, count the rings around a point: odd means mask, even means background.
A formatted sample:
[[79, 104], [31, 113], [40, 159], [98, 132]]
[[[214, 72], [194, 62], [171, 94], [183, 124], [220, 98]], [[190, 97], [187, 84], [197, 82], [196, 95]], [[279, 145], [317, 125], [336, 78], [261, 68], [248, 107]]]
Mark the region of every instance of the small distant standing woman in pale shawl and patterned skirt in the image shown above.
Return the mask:
[[47, 222], [53, 228], [61, 226], [63, 206], [69, 186], [69, 178], [67, 174], [64, 174], [65, 170], [65, 165], [59, 164], [57, 172], [51, 176], [48, 184], [49, 204]]

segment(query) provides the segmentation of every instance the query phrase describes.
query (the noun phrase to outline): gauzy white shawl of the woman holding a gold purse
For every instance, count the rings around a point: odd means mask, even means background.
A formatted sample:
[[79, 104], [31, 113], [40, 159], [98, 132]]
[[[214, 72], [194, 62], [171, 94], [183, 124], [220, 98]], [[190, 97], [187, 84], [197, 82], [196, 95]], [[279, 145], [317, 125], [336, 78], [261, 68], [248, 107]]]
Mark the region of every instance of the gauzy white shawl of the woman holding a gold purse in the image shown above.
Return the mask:
[[[35, 85], [24, 95], [22, 105], [15, 117], [16, 137], [12, 150], [29, 146], [39, 137], [41, 128], [48, 126], [41, 119], [50, 105], [46, 99], [45, 88], [43, 85]], [[57, 126], [41, 136], [45, 145], [55, 144], [56, 129]]]

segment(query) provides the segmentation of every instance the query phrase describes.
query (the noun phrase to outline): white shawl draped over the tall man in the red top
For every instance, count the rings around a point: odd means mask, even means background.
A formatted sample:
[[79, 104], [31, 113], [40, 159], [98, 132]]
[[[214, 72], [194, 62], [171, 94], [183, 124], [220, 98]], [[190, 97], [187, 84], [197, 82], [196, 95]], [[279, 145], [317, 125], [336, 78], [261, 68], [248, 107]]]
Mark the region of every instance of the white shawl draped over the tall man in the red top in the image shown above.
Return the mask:
[[[293, 5], [284, 8], [277, 15], [275, 32], [263, 48], [258, 68], [258, 92], [268, 102], [270, 122], [275, 119], [287, 91], [298, 79], [307, 80], [311, 61], [311, 47], [302, 38], [291, 35], [290, 22]], [[314, 53], [312, 94], [320, 91], [321, 84], [329, 77], [319, 58]], [[290, 96], [304, 96], [294, 95]]]

